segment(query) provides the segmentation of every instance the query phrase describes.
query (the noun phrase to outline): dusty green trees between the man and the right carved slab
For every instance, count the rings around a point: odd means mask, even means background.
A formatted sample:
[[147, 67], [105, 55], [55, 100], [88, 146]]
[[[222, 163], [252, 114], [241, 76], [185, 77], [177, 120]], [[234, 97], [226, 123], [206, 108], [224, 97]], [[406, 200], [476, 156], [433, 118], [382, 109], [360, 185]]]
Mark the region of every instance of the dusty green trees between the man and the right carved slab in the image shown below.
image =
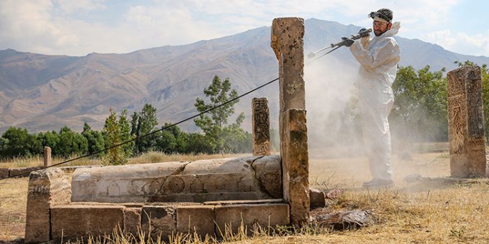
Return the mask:
[[447, 78], [445, 69], [430, 72], [430, 66], [415, 71], [399, 67], [394, 107], [389, 116], [392, 130], [410, 141], [448, 140]]

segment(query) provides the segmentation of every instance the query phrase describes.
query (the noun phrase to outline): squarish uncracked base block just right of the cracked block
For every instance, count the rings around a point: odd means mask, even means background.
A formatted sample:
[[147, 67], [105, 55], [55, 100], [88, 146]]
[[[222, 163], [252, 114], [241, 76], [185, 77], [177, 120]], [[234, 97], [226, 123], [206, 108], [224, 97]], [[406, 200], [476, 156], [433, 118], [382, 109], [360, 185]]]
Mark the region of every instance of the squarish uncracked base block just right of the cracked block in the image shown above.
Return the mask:
[[184, 234], [213, 236], [214, 206], [178, 206], [177, 231]]

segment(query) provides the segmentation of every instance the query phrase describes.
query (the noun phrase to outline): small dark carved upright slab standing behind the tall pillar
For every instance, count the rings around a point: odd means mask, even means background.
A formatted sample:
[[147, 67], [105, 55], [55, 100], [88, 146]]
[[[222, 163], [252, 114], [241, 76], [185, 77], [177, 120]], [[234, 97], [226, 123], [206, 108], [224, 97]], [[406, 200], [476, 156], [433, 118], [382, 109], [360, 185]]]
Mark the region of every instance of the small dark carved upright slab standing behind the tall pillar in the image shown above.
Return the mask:
[[255, 97], [251, 101], [253, 108], [253, 156], [270, 155], [270, 112], [268, 111], [268, 99]]

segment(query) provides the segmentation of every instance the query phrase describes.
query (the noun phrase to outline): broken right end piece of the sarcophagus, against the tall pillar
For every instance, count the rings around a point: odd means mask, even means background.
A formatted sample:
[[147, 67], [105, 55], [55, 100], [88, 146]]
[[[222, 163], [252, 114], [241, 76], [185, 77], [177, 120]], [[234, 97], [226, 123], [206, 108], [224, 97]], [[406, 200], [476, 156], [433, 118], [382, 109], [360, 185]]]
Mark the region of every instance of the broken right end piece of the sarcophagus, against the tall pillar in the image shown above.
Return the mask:
[[253, 162], [256, 179], [261, 182], [267, 193], [274, 198], [282, 198], [282, 181], [281, 181], [281, 161], [280, 156], [264, 156]]

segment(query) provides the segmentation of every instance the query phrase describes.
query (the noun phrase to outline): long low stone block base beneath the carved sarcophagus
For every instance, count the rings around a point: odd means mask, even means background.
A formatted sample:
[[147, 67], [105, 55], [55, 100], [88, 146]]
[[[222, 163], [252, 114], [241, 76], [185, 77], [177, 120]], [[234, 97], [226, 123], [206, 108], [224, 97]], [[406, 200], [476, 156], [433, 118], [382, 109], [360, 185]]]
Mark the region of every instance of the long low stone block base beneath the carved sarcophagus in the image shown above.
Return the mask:
[[138, 237], [139, 230], [157, 240], [171, 234], [222, 237], [226, 232], [289, 225], [289, 205], [278, 200], [244, 200], [199, 203], [109, 204], [76, 202], [51, 208], [51, 239], [63, 241], [89, 235], [124, 234]]

